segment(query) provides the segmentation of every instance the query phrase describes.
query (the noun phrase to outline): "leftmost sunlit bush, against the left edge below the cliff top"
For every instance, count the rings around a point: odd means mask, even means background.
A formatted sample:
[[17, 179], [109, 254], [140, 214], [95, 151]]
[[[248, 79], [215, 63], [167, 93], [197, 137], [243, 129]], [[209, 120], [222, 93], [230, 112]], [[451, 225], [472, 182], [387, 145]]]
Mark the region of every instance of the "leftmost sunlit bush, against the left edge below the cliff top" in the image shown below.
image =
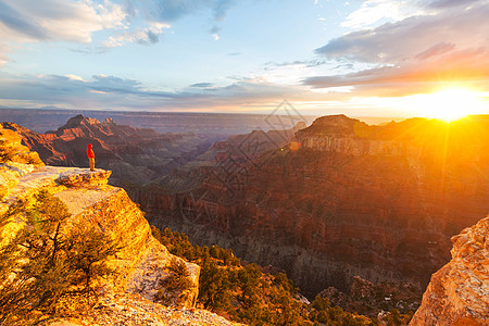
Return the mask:
[[62, 224], [70, 216], [61, 200], [40, 191], [32, 209], [18, 202], [2, 218], [25, 213], [25, 226], [0, 249], [0, 324], [29, 324], [36, 314], [51, 313], [70, 287]]

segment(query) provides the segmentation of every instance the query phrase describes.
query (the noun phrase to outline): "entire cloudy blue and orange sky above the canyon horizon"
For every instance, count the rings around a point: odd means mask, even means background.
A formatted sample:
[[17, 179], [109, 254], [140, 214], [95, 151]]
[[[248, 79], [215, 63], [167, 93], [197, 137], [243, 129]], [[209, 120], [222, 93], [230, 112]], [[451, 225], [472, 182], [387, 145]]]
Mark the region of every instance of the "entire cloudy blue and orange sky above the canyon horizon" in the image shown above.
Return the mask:
[[488, 114], [488, 17], [489, 0], [0, 0], [0, 108]]

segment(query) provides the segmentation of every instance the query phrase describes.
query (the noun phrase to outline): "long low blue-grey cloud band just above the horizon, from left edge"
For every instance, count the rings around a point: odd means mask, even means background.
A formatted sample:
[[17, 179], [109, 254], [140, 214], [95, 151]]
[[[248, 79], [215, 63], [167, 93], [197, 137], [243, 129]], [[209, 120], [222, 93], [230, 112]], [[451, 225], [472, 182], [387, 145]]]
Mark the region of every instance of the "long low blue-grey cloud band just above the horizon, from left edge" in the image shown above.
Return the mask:
[[[135, 79], [96, 75], [11, 75], [0, 78], [0, 105], [23, 108], [76, 108], [99, 110], [233, 110], [262, 108], [284, 99], [311, 101], [335, 99], [296, 85], [276, 85], [265, 79], [241, 78], [230, 85], [192, 84], [177, 90], [154, 90]], [[243, 109], [244, 110], [244, 109]]]

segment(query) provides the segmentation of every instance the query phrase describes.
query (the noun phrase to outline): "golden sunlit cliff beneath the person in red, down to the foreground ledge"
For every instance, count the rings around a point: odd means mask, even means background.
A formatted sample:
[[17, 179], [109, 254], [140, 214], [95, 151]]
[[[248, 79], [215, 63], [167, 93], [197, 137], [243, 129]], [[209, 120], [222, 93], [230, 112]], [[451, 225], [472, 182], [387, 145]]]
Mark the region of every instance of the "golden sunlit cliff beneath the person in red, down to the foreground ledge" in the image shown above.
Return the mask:
[[[0, 164], [0, 214], [17, 201], [29, 202], [39, 190], [48, 190], [67, 205], [71, 213], [68, 229], [79, 223], [93, 225], [121, 248], [116, 256], [109, 261], [114, 272], [103, 284], [99, 311], [88, 312], [86, 316], [73, 311], [71, 325], [86, 325], [86, 322], [90, 325], [123, 322], [125, 325], [174, 325], [172, 318], [195, 325], [204, 325], [209, 321], [209, 324], [233, 325], [209, 312], [193, 310], [200, 268], [192, 263], [184, 262], [191, 286], [181, 293], [179, 308], [168, 309], [152, 302], [159, 279], [170, 275], [170, 262], [183, 260], [172, 255], [152, 237], [143, 213], [123, 189], [106, 185], [110, 171], [45, 166], [36, 153], [29, 153], [21, 145], [21, 137], [12, 130], [0, 129], [0, 141], [2, 153], [10, 155]], [[0, 228], [0, 239], [8, 241], [21, 225], [22, 221], [11, 220]]]

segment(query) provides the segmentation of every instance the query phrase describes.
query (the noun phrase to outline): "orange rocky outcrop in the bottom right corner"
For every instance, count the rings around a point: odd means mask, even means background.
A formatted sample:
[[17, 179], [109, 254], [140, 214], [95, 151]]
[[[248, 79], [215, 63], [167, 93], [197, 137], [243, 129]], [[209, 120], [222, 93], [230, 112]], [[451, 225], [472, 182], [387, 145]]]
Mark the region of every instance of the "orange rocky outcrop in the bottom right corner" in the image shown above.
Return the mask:
[[431, 276], [410, 325], [489, 324], [489, 217], [452, 242], [452, 260]]

